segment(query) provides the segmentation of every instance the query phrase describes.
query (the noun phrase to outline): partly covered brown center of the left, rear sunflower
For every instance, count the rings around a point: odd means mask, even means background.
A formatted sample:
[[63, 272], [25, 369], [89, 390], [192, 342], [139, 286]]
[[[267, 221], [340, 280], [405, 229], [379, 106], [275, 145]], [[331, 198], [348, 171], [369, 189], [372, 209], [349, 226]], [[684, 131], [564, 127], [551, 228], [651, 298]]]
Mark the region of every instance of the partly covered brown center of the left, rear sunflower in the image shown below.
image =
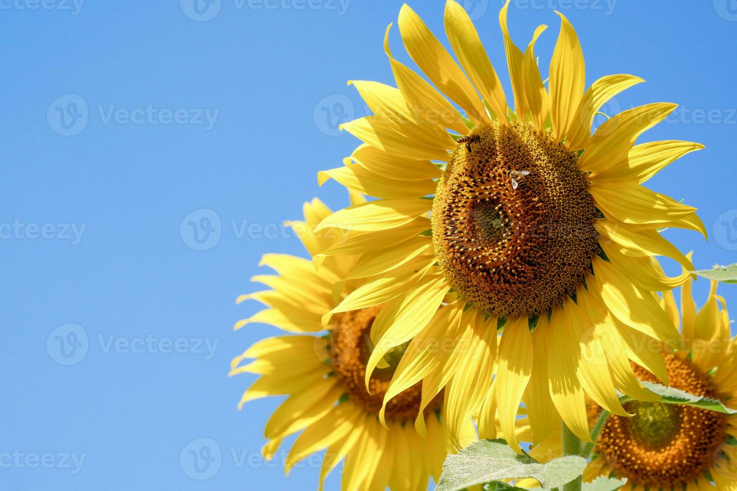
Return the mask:
[[[389, 366], [374, 370], [368, 383], [371, 394], [366, 392], [366, 362], [373, 349], [371, 325], [380, 311], [381, 307], [370, 307], [340, 314], [330, 339], [331, 361], [346, 395], [349, 400], [372, 414], [379, 413], [391, 377], [408, 345], [395, 347], [384, 356]], [[427, 406], [426, 411], [440, 409], [442, 400], [441, 392]], [[417, 417], [421, 401], [422, 382], [419, 382], [387, 403], [386, 420], [413, 420]]]

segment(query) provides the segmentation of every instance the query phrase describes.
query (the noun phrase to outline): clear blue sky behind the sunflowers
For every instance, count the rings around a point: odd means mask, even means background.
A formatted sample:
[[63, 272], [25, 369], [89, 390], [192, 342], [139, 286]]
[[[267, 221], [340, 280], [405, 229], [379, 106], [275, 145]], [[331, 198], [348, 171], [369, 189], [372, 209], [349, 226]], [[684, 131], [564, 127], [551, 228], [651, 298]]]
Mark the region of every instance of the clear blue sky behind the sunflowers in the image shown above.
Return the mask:
[[[315, 195], [345, 204], [342, 189], [318, 189], [315, 174], [339, 166], [356, 145], [333, 130], [338, 116], [366, 114], [346, 80], [391, 83], [381, 43], [402, 2], [351, 0], [343, 10], [337, 0], [312, 0], [319, 8], [300, 10], [299, 0], [272, 0], [269, 8], [218, 0], [205, 13], [191, 3], [99, 0], [77, 10], [71, 0], [45, 0], [49, 9], [0, 1], [4, 490], [316, 484], [315, 468], [287, 479], [256, 457], [279, 401], [239, 412], [254, 378], [226, 375], [233, 356], [276, 330], [251, 325], [234, 333], [233, 323], [258, 308], [234, 300], [259, 288], [248, 280], [262, 272], [262, 254], [303, 252], [282, 229], [258, 227], [298, 218]], [[500, 4], [469, 1], [468, 8], [506, 80]], [[443, 5], [413, 2], [444, 40]], [[551, 27], [538, 45], [542, 66], [559, 28], [553, 8], [579, 32], [588, 82], [615, 73], [647, 80], [609, 110], [682, 104], [645, 138], [707, 149], [651, 187], [700, 208], [711, 237], [666, 234], [696, 251], [697, 266], [735, 262], [737, 2], [515, 1], [510, 26], [518, 45], [538, 24]], [[391, 40], [406, 59], [396, 28]], [[70, 133], [77, 134], [63, 135]], [[185, 220], [200, 209], [214, 213]], [[200, 228], [202, 244], [190, 221], [213, 230], [206, 236]], [[243, 224], [256, 227], [243, 234]], [[707, 286], [700, 283], [699, 301]], [[722, 294], [737, 305], [735, 286], [722, 286]], [[61, 353], [60, 340], [81, 346]], [[187, 445], [200, 438], [217, 442], [222, 454], [217, 473], [203, 481], [187, 473], [210, 476], [186, 464]], [[84, 457], [81, 468], [72, 456]], [[337, 475], [328, 487], [338, 489]]]

